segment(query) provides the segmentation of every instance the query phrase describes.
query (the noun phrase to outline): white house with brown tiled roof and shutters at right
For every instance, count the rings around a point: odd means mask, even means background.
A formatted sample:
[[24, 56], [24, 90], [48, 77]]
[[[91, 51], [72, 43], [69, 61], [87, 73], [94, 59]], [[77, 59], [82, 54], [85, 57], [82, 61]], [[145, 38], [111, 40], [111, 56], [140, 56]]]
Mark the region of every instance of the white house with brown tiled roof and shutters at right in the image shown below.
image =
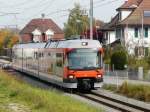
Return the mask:
[[[120, 39], [129, 54], [148, 55], [150, 48], [150, 0], [126, 0], [109, 23], [110, 43]], [[114, 35], [115, 34], [115, 39]], [[106, 35], [106, 33], [105, 33]]]

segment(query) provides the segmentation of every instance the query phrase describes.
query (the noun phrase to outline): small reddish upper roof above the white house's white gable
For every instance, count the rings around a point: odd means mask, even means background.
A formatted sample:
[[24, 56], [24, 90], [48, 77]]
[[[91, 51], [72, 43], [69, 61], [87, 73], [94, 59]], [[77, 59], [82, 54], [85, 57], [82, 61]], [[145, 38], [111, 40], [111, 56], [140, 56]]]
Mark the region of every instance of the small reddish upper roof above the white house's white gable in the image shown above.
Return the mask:
[[125, 3], [119, 7], [117, 10], [121, 9], [134, 9], [136, 8], [143, 0], [126, 0]]

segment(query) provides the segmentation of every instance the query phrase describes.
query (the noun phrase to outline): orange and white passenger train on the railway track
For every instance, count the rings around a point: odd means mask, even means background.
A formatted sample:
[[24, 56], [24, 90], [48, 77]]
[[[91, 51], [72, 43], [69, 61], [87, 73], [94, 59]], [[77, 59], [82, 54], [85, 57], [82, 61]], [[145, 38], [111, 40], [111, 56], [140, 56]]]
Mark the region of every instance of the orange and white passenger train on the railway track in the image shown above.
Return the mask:
[[17, 44], [13, 68], [64, 88], [94, 89], [103, 82], [103, 49], [88, 39]]

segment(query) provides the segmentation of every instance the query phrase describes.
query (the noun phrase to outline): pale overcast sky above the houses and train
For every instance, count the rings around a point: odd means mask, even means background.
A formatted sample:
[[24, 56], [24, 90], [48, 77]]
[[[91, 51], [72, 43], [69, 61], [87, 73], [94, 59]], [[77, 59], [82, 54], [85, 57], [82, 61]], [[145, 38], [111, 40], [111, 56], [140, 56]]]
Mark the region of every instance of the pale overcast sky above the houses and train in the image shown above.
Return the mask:
[[[108, 22], [116, 14], [116, 8], [125, 0], [93, 0], [94, 17]], [[33, 18], [41, 17], [45, 13], [46, 18], [53, 19], [61, 28], [68, 18], [68, 9], [72, 9], [74, 3], [89, 10], [90, 0], [0, 0], [0, 27], [18, 25], [22, 28]], [[8, 13], [8, 14], [6, 14]], [[15, 17], [15, 14], [16, 17]]]

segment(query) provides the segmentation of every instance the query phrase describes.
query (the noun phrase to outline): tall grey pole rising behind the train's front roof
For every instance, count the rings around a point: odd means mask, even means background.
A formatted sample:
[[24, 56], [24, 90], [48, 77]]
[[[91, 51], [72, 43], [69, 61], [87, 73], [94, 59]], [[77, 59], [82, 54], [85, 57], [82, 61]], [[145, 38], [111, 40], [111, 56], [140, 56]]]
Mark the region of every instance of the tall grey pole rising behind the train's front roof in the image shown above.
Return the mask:
[[90, 39], [93, 39], [93, 0], [90, 0]]

